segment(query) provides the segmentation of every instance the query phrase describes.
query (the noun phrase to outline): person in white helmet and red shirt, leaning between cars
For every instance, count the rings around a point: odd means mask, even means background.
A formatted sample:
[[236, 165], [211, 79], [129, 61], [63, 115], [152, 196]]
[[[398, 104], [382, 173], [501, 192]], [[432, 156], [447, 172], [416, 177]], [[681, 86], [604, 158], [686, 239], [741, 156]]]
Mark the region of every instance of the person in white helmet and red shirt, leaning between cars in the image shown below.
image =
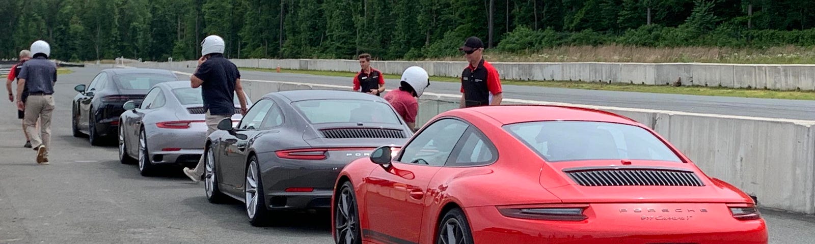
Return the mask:
[[384, 97], [414, 132], [416, 132], [416, 114], [419, 113], [419, 101], [416, 98], [421, 97], [428, 86], [430, 86], [430, 76], [425, 69], [412, 66], [402, 73], [399, 89], [394, 89]]

